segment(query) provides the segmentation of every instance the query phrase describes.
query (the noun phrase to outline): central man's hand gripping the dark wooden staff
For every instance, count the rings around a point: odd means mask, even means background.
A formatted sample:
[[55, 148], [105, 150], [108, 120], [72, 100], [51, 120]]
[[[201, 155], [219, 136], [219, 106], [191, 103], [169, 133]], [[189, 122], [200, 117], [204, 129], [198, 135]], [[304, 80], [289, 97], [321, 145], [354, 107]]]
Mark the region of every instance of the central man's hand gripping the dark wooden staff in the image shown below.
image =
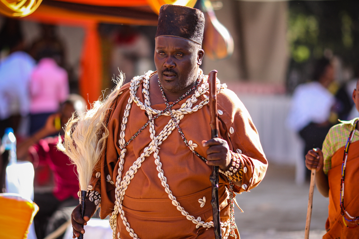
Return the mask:
[[227, 141], [220, 138], [203, 140], [202, 144], [207, 149], [207, 164], [210, 166], [219, 166], [220, 169], [226, 171], [229, 168], [231, 154]]

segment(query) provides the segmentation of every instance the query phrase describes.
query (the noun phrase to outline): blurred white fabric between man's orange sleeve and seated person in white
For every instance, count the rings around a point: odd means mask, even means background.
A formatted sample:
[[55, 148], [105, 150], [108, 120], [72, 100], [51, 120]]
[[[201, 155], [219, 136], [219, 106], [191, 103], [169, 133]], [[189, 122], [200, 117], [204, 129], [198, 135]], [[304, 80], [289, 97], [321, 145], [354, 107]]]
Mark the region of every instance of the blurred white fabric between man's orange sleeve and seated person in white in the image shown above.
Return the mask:
[[255, 124], [269, 164], [295, 166], [295, 182], [304, 183], [304, 144], [292, 130], [286, 128], [291, 97], [286, 95], [238, 94]]

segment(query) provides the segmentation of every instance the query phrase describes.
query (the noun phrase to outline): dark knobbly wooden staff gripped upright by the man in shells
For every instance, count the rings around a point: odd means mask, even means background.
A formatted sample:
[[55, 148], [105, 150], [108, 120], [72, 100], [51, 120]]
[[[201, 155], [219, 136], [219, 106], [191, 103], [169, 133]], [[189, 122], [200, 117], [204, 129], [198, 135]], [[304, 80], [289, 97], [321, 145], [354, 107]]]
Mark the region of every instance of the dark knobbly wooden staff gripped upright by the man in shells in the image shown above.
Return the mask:
[[[209, 84], [209, 115], [210, 115], [210, 126], [211, 126], [211, 138], [218, 138], [218, 114], [217, 114], [217, 71], [213, 70], [208, 74]], [[219, 218], [219, 199], [218, 199], [218, 182], [219, 182], [219, 167], [212, 166], [212, 173], [209, 177], [212, 183], [212, 199], [211, 205], [213, 210], [213, 230], [215, 239], [222, 238], [222, 231], [220, 227]]]

